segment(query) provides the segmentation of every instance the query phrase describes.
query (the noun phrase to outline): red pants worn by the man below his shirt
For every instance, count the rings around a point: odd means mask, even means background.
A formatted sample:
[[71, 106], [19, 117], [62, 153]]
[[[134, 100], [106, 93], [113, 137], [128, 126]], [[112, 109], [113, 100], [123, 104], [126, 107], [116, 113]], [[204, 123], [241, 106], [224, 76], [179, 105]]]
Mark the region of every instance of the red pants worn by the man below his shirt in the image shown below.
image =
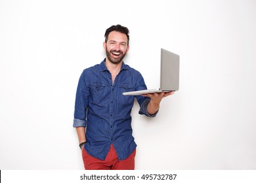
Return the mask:
[[83, 164], [86, 170], [134, 170], [135, 169], [135, 154], [136, 149], [127, 158], [118, 161], [116, 150], [113, 144], [110, 146], [110, 150], [105, 160], [100, 160], [90, 156], [83, 148]]

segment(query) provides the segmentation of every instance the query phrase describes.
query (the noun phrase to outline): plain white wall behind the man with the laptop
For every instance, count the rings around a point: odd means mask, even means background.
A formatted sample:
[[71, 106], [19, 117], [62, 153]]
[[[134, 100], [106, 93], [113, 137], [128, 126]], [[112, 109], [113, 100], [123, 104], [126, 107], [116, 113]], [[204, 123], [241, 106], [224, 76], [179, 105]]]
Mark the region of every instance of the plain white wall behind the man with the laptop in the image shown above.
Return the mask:
[[[110, 25], [148, 88], [160, 48], [180, 90], [154, 119], [133, 108], [136, 169], [256, 169], [256, 1], [0, 1], [0, 169], [83, 169], [73, 113], [83, 69]], [[154, 72], [154, 74], [152, 74]]]

